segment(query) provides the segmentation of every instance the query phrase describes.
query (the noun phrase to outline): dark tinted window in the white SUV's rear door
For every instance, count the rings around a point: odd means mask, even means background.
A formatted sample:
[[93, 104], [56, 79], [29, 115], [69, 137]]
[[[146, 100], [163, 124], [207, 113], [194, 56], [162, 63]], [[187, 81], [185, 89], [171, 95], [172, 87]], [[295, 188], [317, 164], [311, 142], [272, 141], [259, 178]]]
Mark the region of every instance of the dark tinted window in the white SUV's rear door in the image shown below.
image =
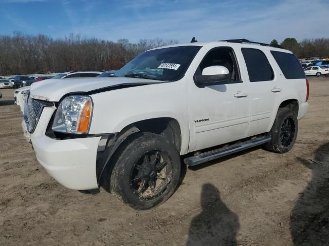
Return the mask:
[[274, 73], [266, 55], [258, 49], [242, 48], [250, 82], [273, 80]]

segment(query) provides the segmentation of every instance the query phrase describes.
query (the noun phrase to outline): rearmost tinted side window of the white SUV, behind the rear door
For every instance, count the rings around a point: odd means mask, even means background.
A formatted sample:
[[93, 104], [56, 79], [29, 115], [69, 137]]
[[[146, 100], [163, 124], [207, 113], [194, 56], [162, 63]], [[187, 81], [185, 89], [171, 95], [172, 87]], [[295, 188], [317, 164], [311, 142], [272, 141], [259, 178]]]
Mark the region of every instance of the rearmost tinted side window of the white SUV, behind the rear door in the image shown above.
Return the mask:
[[283, 75], [287, 79], [305, 78], [305, 73], [294, 54], [280, 51], [271, 51]]

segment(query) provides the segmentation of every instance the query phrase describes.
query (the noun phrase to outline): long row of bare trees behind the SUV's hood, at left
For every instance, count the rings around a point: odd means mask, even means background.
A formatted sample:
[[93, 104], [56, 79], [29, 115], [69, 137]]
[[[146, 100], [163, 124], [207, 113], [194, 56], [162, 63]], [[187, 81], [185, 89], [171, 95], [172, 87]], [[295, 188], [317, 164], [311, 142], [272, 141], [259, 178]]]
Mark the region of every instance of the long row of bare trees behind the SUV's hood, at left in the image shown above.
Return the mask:
[[133, 44], [127, 39], [112, 42], [73, 34], [53, 39], [14, 32], [0, 36], [0, 75], [117, 70], [145, 50], [176, 43], [155, 38]]

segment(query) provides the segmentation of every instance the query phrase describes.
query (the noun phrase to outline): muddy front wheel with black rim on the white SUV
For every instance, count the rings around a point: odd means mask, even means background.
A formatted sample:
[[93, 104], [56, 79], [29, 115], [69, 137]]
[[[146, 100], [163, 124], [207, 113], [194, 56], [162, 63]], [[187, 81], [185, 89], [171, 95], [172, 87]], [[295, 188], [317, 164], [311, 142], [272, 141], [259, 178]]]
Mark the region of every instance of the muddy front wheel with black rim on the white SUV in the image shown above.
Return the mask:
[[180, 156], [166, 139], [141, 133], [121, 150], [111, 175], [111, 192], [137, 210], [165, 202], [180, 176]]

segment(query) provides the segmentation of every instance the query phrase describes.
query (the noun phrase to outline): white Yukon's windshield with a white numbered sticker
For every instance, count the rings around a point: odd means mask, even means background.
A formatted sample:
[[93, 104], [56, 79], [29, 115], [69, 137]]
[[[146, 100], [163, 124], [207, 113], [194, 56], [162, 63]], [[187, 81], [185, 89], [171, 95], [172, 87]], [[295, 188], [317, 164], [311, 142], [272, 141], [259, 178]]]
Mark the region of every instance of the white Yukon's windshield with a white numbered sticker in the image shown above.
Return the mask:
[[181, 79], [200, 46], [177, 46], [149, 50], [123, 66], [114, 76], [162, 81]]

